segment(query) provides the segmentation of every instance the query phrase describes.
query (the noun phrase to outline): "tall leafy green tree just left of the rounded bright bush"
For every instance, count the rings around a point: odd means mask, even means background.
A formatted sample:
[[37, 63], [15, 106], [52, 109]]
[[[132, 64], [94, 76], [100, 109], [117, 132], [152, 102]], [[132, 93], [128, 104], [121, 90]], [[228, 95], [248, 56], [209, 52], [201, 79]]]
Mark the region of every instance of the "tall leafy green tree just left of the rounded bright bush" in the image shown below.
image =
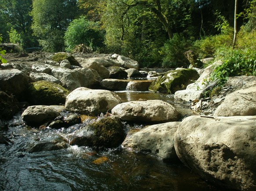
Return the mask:
[[64, 33], [77, 15], [77, 0], [33, 0], [32, 28], [44, 50], [62, 51]]

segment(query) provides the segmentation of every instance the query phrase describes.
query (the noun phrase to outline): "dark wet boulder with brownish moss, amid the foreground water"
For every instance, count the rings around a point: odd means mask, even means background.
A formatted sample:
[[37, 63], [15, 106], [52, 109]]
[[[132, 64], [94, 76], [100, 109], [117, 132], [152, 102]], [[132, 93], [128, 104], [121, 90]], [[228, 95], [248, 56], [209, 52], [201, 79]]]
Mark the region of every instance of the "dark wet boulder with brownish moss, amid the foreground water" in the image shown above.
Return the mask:
[[123, 125], [117, 117], [105, 117], [74, 133], [71, 145], [113, 148], [124, 141]]

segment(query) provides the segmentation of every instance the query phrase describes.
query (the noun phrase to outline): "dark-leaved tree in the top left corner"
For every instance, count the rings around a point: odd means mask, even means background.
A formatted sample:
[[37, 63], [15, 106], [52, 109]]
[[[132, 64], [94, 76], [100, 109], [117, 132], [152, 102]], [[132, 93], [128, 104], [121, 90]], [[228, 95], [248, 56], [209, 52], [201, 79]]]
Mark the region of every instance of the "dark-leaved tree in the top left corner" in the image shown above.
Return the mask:
[[1, 33], [3, 33], [5, 42], [7, 42], [7, 32], [11, 28], [21, 35], [22, 42], [25, 47], [34, 46], [37, 44], [36, 39], [33, 37], [31, 25], [32, 17], [29, 12], [32, 10], [32, 0], [4, 0], [0, 3], [0, 18], [5, 21], [0, 23]]

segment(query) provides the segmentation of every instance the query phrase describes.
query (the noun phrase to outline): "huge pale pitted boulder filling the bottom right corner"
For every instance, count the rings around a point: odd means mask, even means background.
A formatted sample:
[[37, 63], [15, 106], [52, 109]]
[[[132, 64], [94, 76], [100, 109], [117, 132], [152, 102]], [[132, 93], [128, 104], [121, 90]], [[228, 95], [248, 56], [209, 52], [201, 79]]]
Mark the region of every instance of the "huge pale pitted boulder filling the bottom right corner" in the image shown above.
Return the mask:
[[205, 180], [232, 189], [256, 190], [256, 117], [190, 116], [174, 142], [179, 159]]

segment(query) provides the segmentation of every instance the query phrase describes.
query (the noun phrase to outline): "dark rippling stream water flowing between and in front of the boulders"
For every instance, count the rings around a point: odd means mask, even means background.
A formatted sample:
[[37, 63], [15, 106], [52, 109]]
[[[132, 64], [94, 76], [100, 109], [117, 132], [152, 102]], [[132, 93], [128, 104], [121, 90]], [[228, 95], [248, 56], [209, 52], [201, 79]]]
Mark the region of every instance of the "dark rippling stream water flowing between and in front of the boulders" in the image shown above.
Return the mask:
[[[188, 106], [174, 103], [170, 95], [151, 92], [116, 92], [124, 102], [138, 99], [163, 99], [188, 114]], [[183, 109], [182, 109], [183, 108]], [[7, 123], [7, 122], [6, 122]], [[9, 138], [0, 144], [0, 190], [6, 191], [217, 191], [218, 189], [181, 163], [165, 163], [157, 157], [134, 153], [121, 147], [97, 150], [70, 146], [47, 152], [26, 152], [30, 142], [60, 134], [72, 134], [77, 125], [67, 129], [26, 126], [21, 113], [7, 123], [0, 134]], [[133, 128], [140, 128], [136, 124]]]

